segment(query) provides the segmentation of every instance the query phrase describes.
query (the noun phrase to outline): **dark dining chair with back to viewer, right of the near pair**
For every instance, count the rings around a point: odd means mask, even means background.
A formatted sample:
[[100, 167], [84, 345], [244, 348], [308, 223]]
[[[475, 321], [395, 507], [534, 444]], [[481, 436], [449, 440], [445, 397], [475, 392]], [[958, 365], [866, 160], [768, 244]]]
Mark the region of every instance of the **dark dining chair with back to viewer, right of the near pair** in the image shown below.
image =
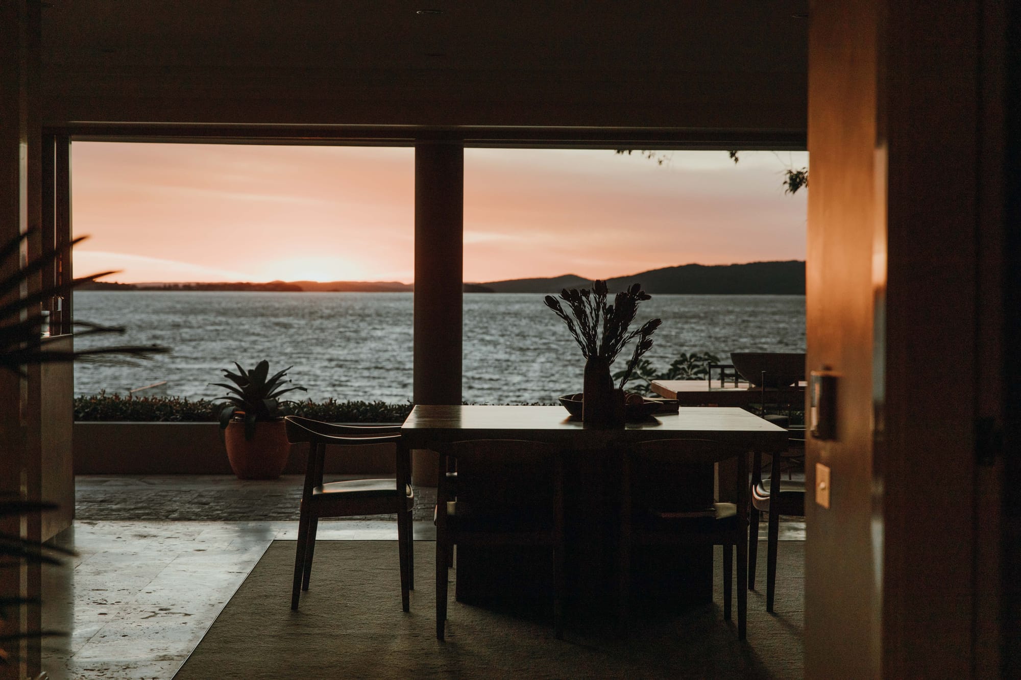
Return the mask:
[[[689, 508], [663, 493], [648, 494], [649, 482], [679, 463], [713, 465], [736, 459], [733, 498]], [[723, 618], [731, 619], [733, 551], [737, 547], [737, 637], [744, 639], [747, 610], [748, 486], [747, 451], [703, 439], [661, 439], [632, 446], [621, 465], [621, 514], [618, 606], [621, 627], [629, 619], [631, 552], [638, 545], [701, 544], [723, 546]]]

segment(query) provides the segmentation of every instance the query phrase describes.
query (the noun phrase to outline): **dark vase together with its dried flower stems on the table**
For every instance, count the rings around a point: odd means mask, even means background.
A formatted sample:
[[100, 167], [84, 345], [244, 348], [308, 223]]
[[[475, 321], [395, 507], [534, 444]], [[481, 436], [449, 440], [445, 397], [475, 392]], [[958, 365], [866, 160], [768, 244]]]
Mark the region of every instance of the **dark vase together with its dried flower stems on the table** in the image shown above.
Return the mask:
[[[591, 290], [565, 289], [561, 291], [560, 300], [547, 295], [543, 301], [567, 325], [585, 357], [582, 420], [586, 423], [623, 425], [624, 386], [641, 357], [652, 347], [652, 333], [663, 322], [651, 319], [637, 330], [628, 330], [638, 312], [638, 304], [651, 299], [641, 289], [641, 284], [636, 283], [617, 293], [613, 304], [607, 303], [607, 296], [606, 283], [596, 281]], [[567, 304], [570, 314], [561, 301]], [[620, 386], [615, 390], [610, 367], [632, 340], [637, 340], [634, 351], [621, 375]]]

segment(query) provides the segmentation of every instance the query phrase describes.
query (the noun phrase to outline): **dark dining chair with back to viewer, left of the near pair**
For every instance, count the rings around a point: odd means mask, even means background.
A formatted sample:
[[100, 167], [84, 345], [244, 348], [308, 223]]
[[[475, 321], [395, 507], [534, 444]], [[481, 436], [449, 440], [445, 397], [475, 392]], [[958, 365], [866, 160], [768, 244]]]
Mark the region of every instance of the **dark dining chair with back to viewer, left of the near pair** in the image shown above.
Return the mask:
[[[477, 439], [431, 446], [439, 454], [436, 498], [436, 637], [446, 628], [447, 570], [454, 545], [538, 545], [552, 551], [553, 627], [564, 637], [564, 462], [555, 447], [536, 441]], [[505, 473], [527, 471], [528, 498], [501, 497]], [[475, 477], [471, 484], [457, 483]], [[483, 479], [479, 479], [483, 478]], [[543, 480], [546, 481], [543, 484]]]

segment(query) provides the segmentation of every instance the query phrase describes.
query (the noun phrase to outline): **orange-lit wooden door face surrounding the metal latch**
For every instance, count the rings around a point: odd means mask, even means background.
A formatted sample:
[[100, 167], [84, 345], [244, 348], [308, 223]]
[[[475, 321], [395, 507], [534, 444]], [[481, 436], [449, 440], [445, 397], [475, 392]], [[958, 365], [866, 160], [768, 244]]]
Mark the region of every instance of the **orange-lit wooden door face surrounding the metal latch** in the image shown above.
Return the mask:
[[[837, 436], [807, 442], [831, 469], [830, 507], [806, 512], [806, 676], [878, 677], [882, 517], [874, 517], [874, 314], [884, 266], [877, 239], [882, 148], [877, 148], [875, 2], [817, 2], [809, 31], [808, 367], [840, 374]], [[877, 191], [878, 190], [878, 191]], [[878, 194], [878, 195], [877, 195]], [[878, 258], [878, 261], [877, 261]], [[876, 266], [874, 278], [873, 266]], [[879, 295], [878, 300], [875, 295]]]

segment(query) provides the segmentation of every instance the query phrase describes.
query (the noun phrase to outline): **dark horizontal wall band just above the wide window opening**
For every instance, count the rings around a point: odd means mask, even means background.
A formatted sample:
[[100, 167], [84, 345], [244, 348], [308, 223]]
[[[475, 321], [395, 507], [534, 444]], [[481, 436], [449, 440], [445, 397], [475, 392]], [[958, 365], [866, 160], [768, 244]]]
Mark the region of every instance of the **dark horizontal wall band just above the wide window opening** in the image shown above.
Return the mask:
[[805, 129], [803, 81], [778, 74], [173, 70], [50, 67], [44, 120]]

